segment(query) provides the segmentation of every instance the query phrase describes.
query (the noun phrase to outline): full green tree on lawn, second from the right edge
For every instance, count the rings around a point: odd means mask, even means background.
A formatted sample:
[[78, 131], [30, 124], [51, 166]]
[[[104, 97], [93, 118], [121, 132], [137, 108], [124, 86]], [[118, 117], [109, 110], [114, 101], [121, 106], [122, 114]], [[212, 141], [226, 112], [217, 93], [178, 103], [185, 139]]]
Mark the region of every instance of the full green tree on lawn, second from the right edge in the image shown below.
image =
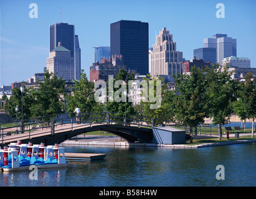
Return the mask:
[[207, 71], [207, 107], [213, 124], [218, 125], [219, 140], [222, 137], [221, 126], [229, 123], [232, 103], [237, 99], [237, 81], [231, 80], [232, 73], [227, 69], [227, 66], [217, 64]]

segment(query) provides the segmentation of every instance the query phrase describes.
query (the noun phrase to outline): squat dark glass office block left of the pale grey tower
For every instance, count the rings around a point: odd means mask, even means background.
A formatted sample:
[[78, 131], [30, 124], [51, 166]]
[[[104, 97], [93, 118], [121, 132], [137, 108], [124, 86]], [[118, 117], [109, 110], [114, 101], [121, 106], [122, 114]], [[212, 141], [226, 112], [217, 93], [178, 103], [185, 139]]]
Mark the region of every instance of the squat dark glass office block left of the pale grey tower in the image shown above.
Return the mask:
[[204, 62], [217, 63], [216, 48], [199, 48], [194, 49], [194, 57], [202, 59]]

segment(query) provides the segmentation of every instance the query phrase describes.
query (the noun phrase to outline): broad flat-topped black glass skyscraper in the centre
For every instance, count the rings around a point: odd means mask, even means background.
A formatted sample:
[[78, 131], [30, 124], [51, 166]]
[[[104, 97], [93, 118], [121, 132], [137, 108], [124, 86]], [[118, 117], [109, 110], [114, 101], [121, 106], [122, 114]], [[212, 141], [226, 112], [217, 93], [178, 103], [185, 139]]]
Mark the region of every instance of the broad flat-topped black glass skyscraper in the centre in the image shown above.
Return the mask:
[[127, 69], [147, 75], [148, 23], [121, 20], [110, 24], [110, 55], [122, 55]]

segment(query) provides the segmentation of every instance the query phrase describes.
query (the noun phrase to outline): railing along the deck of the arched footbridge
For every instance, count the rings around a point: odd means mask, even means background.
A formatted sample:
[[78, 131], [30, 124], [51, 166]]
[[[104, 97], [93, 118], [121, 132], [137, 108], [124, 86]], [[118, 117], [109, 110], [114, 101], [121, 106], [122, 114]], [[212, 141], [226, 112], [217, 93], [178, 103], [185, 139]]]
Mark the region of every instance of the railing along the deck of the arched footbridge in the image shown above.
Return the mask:
[[[82, 113], [80, 118], [80, 125], [77, 123], [74, 113], [54, 114], [45, 117], [24, 119], [17, 121], [15, 126], [0, 127], [1, 142], [4, 143], [12, 139], [11, 134], [22, 134], [21, 137], [28, 137], [31, 139], [32, 132], [36, 134], [49, 133], [54, 136], [55, 132], [69, 129], [71, 131], [82, 126], [92, 126], [93, 124], [120, 124], [123, 126], [138, 126], [138, 127], [153, 127], [158, 124], [155, 123], [154, 118], [148, 118], [140, 113], [133, 115], [128, 113], [116, 112], [102, 112], [102, 113]], [[67, 126], [70, 125], [71, 126]], [[58, 128], [56, 128], [58, 127]], [[9, 137], [8, 137], [9, 136]]]

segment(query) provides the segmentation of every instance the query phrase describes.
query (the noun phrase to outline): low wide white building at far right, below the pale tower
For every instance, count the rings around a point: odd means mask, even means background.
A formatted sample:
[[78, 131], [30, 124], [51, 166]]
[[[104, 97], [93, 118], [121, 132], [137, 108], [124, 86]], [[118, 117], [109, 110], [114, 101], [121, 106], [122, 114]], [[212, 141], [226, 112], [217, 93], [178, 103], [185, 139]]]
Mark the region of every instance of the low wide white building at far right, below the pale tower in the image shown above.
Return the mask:
[[227, 57], [222, 61], [223, 65], [229, 65], [230, 68], [238, 67], [238, 68], [250, 68], [250, 60], [248, 57]]

